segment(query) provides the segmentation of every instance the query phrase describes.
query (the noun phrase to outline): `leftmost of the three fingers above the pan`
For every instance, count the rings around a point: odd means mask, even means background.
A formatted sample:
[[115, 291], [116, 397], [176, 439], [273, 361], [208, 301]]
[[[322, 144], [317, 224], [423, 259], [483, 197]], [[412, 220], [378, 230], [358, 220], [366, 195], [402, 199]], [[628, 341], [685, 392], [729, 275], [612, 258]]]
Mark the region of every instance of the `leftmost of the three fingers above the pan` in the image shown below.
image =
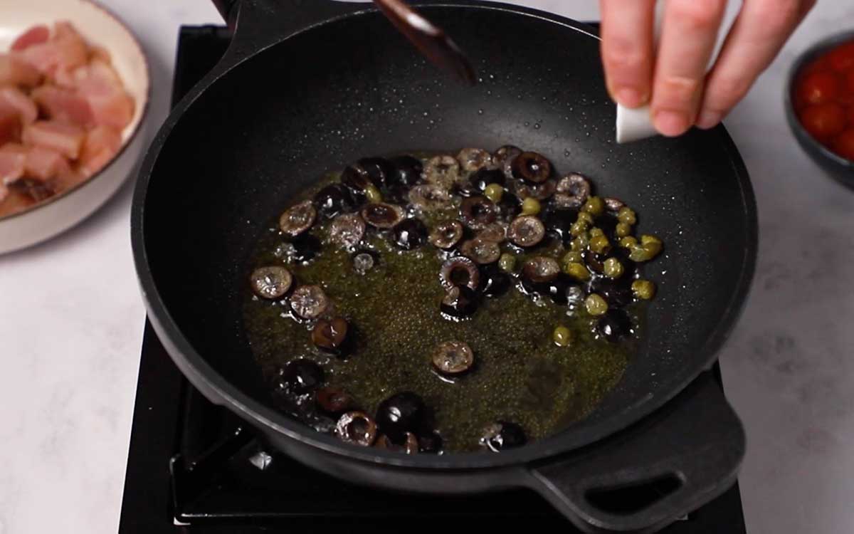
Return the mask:
[[600, 0], [602, 62], [608, 92], [636, 108], [649, 100], [652, 85], [652, 25], [655, 0]]

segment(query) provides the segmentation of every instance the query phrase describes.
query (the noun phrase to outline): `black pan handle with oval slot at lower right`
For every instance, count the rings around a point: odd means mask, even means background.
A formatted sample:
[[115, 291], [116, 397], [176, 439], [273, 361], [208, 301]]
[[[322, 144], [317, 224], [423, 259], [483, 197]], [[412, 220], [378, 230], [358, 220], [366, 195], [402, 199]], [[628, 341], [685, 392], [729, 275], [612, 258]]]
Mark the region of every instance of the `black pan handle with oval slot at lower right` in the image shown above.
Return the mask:
[[735, 482], [745, 433], [719, 388], [703, 373], [622, 435], [532, 466], [529, 485], [582, 531], [640, 534], [669, 525]]

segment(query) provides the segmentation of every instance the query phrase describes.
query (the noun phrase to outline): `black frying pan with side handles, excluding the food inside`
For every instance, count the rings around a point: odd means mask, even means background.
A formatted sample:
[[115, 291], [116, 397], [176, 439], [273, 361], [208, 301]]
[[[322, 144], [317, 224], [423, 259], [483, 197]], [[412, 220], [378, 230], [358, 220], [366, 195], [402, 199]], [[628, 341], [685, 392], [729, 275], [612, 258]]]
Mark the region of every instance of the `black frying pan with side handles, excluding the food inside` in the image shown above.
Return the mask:
[[[132, 206], [149, 317], [196, 388], [336, 477], [435, 493], [529, 487], [585, 531], [655, 531], [734, 482], [744, 432], [706, 371], [752, 279], [757, 216], [722, 128], [613, 144], [595, 32], [541, 11], [417, 3], [477, 67], [483, 81], [470, 88], [369, 5], [232, 3], [219, 3], [231, 47], [161, 127]], [[251, 249], [272, 216], [362, 156], [508, 143], [593, 177], [664, 239], [647, 267], [659, 294], [615, 390], [566, 431], [499, 455], [361, 449], [273, 408], [241, 317]], [[631, 508], [600, 498], [638, 488], [658, 498]]]

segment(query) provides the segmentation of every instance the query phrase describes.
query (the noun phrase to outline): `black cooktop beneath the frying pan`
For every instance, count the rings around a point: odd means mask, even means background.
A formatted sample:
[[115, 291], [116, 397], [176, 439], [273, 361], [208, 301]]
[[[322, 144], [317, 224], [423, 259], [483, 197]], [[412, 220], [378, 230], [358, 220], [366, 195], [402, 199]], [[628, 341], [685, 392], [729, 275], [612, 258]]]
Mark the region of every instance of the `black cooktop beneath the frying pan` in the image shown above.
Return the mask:
[[[184, 26], [173, 103], [219, 60], [229, 34]], [[716, 374], [720, 380], [720, 373]], [[721, 395], [723, 394], [721, 390]], [[477, 525], [577, 532], [529, 490], [411, 496], [330, 478], [275, 452], [184, 379], [146, 323], [120, 534], [419, 531]], [[737, 484], [663, 534], [744, 534]]]

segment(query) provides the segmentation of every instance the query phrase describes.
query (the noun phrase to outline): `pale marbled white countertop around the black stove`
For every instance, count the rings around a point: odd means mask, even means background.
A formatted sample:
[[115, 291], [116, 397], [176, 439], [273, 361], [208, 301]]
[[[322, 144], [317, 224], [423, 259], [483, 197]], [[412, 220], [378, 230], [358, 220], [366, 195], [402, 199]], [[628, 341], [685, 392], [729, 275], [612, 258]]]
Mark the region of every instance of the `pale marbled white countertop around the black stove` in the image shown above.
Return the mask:
[[[178, 26], [219, 17], [207, 0], [102, 2], [151, 56], [156, 126]], [[592, 0], [518, 3], [579, 20], [598, 12]], [[798, 50], [852, 24], [854, 4], [819, 2], [726, 122], [761, 234], [752, 295], [721, 354], [749, 439], [751, 534], [854, 531], [854, 191], [798, 149], [781, 105]], [[130, 201], [125, 187], [72, 231], [0, 257], [0, 534], [117, 531], [144, 319]]]

